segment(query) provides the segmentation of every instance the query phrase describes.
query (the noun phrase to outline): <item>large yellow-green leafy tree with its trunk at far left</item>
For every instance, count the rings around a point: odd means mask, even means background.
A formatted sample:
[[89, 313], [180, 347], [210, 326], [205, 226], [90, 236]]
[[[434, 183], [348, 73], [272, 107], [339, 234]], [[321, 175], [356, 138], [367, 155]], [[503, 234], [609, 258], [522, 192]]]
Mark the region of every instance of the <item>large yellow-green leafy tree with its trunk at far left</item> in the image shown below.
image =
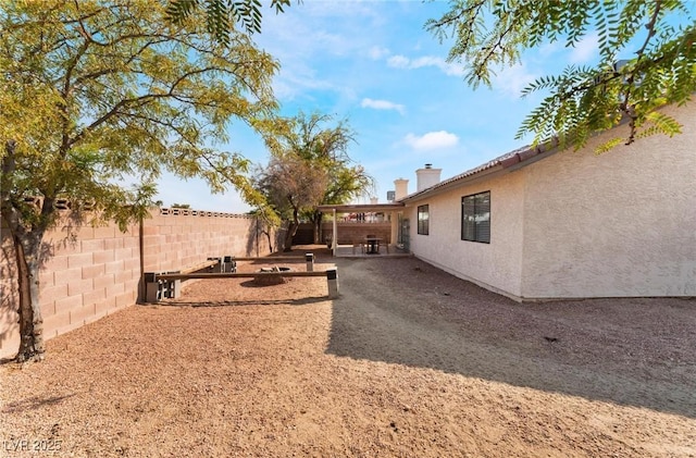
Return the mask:
[[[249, 162], [215, 150], [232, 120], [277, 106], [277, 63], [249, 37], [222, 46], [189, 17], [173, 26], [150, 0], [8, 2], [0, 9], [0, 215], [17, 264], [17, 360], [42, 359], [39, 268], [57, 201], [85, 221], [141, 220], [162, 171], [260, 196]], [[140, 184], [128, 188], [125, 176]], [[87, 211], [89, 210], [89, 211]]]

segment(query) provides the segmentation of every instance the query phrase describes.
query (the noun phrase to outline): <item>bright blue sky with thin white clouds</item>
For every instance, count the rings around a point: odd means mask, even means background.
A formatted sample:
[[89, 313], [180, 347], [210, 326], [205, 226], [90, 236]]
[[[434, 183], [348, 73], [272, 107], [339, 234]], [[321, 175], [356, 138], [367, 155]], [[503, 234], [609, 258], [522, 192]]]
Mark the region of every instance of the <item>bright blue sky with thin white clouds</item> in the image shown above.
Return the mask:
[[[274, 91], [281, 114], [319, 112], [346, 120], [355, 132], [348, 153], [374, 177], [373, 197], [387, 202], [397, 178], [415, 191], [415, 170], [431, 163], [442, 178], [458, 175], [524, 146], [515, 139], [539, 95], [521, 98], [534, 79], [569, 64], [597, 60], [597, 37], [575, 48], [548, 44], [502, 69], [493, 87], [476, 90], [461, 65], [447, 63], [449, 44], [440, 44], [424, 24], [447, 11], [444, 1], [316, 1], [293, 3], [283, 14], [264, 10], [257, 44], [279, 61]], [[240, 121], [228, 127], [220, 148], [266, 164], [260, 137]], [[165, 176], [158, 199], [164, 206], [244, 213], [250, 210], [236, 191], [212, 195], [199, 181]], [[352, 203], [366, 203], [369, 198]]]

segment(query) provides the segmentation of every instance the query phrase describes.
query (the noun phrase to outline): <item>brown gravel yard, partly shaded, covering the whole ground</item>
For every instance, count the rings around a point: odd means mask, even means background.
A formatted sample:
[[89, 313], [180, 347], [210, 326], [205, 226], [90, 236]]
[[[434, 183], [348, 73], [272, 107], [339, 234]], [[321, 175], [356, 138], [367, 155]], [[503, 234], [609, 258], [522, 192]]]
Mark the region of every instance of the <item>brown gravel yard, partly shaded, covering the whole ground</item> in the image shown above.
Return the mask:
[[201, 281], [0, 366], [0, 456], [696, 457], [696, 300], [520, 305], [415, 259], [319, 261], [339, 299]]

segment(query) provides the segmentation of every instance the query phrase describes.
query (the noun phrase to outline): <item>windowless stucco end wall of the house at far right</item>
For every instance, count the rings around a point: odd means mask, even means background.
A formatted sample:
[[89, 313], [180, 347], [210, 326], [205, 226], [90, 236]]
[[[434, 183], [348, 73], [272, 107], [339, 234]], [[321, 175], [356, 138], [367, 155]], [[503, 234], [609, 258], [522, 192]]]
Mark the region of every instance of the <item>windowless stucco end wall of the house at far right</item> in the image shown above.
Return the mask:
[[[683, 134], [523, 168], [523, 298], [696, 296], [696, 104]], [[625, 128], [619, 132], [625, 135]]]

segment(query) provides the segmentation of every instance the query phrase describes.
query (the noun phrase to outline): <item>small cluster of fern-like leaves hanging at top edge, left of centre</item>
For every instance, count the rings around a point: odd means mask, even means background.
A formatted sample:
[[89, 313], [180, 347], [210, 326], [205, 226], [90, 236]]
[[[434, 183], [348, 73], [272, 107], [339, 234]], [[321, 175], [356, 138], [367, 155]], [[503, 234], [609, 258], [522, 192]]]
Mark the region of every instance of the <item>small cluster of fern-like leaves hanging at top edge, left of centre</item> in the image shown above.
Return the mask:
[[[171, 0], [166, 10], [167, 18], [178, 24], [192, 15], [200, 8], [199, 0]], [[283, 13], [290, 0], [271, 0], [271, 9]], [[261, 33], [260, 0], [208, 0], [206, 1], [206, 20], [208, 32], [224, 45], [229, 45], [234, 24], [244, 27], [247, 34]]]

